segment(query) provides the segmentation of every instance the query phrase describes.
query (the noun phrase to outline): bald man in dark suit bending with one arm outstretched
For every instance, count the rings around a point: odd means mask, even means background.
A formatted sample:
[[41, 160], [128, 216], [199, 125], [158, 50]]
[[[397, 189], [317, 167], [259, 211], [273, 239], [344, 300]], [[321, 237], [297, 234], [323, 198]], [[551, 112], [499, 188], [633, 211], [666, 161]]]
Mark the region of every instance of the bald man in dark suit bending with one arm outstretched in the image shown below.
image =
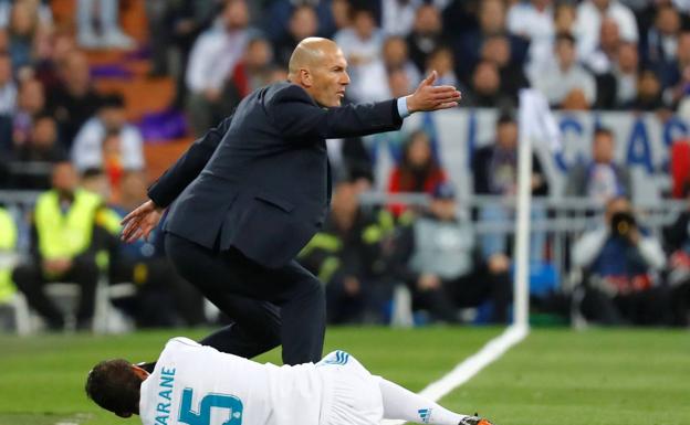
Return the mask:
[[411, 113], [457, 106], [460, 93], [435, 78], [407, 97], [339, 107], [349, 84], [343, 52], [305, 39], [288, 82], [247, 96], [149, 188], [122, 237], [146, 237], [170, 206], [168, 256], [233, 320], [203, 344], [251, 358], [282, 343], [286, 364], [321, 359], [323, 285], [294, 258], [328, 210], [325, 139], [396, 130]]

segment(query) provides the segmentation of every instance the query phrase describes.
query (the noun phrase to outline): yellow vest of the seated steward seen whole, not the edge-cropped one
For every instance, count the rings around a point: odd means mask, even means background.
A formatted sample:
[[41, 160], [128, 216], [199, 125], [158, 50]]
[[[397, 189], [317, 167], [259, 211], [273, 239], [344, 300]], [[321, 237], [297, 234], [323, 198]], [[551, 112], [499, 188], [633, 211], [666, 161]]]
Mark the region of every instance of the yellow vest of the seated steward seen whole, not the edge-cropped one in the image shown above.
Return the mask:
[[56, 191], [41, 194], [34, 211], [41, 256], [46, 259], [73, 258], [88, 249], [96, 212], [102, 203], [97, 194], [76, 190], [70, 209], [63, 214]]

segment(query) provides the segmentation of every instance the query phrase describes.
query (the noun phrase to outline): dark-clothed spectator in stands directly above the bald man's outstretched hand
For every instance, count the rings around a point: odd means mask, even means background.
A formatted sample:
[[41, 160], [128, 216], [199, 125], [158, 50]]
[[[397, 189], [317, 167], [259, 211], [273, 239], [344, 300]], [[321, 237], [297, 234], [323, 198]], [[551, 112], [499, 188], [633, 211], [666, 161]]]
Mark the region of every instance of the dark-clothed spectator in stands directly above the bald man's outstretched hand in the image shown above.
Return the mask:
[[422, 4], [415, 14], [412, 31], [407, 36], [409, 57], [419, 71], [426, 68], [427, 56], [443, 42], [443, 23], [439, 9]]

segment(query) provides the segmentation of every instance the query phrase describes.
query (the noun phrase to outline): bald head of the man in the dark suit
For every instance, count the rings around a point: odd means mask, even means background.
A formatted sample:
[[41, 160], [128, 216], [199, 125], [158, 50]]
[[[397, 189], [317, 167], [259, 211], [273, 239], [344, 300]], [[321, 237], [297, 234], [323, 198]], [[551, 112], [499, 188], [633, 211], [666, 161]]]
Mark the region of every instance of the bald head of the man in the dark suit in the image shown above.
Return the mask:
[[343, 51], [333, 41], [316, 36], [302, 40], [288, 68], [288, 79], [304, 88], [317, 104], [341, 106], [349, 76]]

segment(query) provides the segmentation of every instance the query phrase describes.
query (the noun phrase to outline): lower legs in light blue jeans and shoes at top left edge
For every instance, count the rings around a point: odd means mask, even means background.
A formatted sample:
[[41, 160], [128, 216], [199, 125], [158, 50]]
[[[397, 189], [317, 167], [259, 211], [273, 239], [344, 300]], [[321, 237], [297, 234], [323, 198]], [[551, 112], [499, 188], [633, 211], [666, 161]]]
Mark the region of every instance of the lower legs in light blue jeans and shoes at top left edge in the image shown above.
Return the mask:
[[[98, 11], [98, 25], [94, 25], [94, 11]], [[118, 0], [79, 0], [76, 23], [79, 43], [85, 49], [133, 49], [136, 42], [119, 26]], [[95, 28], [101, 29], [96, 33]]]

